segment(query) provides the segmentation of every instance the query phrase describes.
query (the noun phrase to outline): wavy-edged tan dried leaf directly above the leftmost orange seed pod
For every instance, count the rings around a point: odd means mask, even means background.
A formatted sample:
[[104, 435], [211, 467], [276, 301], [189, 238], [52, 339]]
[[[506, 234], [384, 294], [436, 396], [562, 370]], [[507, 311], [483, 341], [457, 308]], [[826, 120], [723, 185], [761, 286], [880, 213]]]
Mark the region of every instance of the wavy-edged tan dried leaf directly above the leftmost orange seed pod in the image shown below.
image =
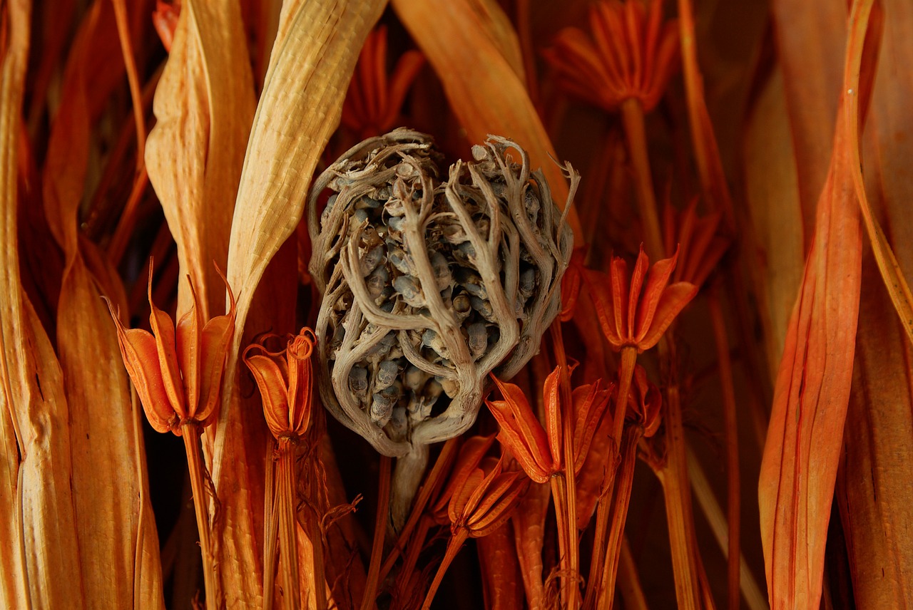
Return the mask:
[[[232, 202], [254, 117], [254, 85], [237, 0], [184, 0], [155, 90], [158, 122], [146, 144], [149, 179], [177, 243], [181, 277], [194, 278], [204, 319], [226, 311]], [[178, 315], [192, 297], [181, 282]]]

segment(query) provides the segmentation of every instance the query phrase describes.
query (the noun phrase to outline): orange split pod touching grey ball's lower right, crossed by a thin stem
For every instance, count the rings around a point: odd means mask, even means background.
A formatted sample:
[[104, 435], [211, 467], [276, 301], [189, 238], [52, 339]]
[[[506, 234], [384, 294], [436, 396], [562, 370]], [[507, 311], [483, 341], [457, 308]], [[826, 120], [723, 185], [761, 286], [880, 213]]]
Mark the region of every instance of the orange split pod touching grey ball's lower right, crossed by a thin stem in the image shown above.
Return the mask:
[[[542, 387], [545, 428], [533, 414], [526, 395], [512, 383], [503, 383], [493, 377], [504, 399], [486, 400], [500, 426], [498, 440], [510, 450], [530, 479], [537, 483], [548, 481], [563, 469], [560, 375], [561, 367], [556, 367], [546, 377]], [[602, 380], [598, 380], [572, 391], [574, 472], [582, 468], [593, 434], [608, 405], [610, 389], [601, 388], [601, 384]]]

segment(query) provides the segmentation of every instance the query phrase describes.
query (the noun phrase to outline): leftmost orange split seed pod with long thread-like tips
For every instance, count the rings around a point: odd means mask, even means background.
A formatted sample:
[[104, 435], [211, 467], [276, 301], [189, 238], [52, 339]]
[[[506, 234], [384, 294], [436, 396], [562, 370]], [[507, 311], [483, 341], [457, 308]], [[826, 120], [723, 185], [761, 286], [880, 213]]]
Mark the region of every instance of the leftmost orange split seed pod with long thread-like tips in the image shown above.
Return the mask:
[[108, 307], [117, 326], [123, 364], [142, 401], [152, 428], [173, 431], [196, 422], [205, 428], [215, 421], [228, 346], [235, 332], [235, 295], [219, 270], [231, 301], [226, 315], [205, 323], [197, 306], [196, 291], [187, 282], [194, 305], [181, 316], [175, 328], [170, 315], [152, 303], [152, 265], [149, 268], [149, 322], [152, 334], [141, 328], [124, 328], [120, 312]]

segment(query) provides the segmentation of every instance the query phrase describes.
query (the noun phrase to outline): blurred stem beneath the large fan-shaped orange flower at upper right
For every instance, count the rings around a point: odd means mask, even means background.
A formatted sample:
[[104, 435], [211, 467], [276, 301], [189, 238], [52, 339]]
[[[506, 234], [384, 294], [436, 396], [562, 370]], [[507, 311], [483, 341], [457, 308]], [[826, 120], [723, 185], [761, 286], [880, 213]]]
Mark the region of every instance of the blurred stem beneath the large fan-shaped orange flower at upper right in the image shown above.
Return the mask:
[[[627, 138], [631, 167], [635, 174], [635, 192], [640, 217], [644, 222], [646, 253], [654, 261], [663, 258], [663, 233], [659, 229], [659, 212], [656, 208], [656, 192], [653, 190], [653, 176], [650, 171], [650, 157], [646, 150], [644, 129], [644, 107], [637, 98], [627, 98], [621, 105], [624, 135]], [[621, 396], [619, 394], [619, 396]], [[623, 398], [627, 400], [625, 396]], [[624, 419], [624, 418], [623, 418]]]

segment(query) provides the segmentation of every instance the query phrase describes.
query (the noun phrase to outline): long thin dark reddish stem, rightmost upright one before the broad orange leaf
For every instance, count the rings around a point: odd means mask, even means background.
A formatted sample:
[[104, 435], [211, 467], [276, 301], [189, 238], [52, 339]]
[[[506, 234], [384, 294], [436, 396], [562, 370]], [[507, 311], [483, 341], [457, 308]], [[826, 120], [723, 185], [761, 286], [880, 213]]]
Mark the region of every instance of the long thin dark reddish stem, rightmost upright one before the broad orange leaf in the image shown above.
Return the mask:
[[739, 425], [736, 419], [736, 393], [732, 383], [732, 364], [729, 362], [729, 340], [726, 322], [719, 305], [719, 286], [710, 286], [708, 294], [713, 336], [717, 344], [719, 384], [722, 387], [723, 419], [726, 424], [726, 474], [729, 491], [726, 502], [729, 522], [729, 610], [739, 608], [739, 557], [740, 557], [740, 481], [739, 481]]

